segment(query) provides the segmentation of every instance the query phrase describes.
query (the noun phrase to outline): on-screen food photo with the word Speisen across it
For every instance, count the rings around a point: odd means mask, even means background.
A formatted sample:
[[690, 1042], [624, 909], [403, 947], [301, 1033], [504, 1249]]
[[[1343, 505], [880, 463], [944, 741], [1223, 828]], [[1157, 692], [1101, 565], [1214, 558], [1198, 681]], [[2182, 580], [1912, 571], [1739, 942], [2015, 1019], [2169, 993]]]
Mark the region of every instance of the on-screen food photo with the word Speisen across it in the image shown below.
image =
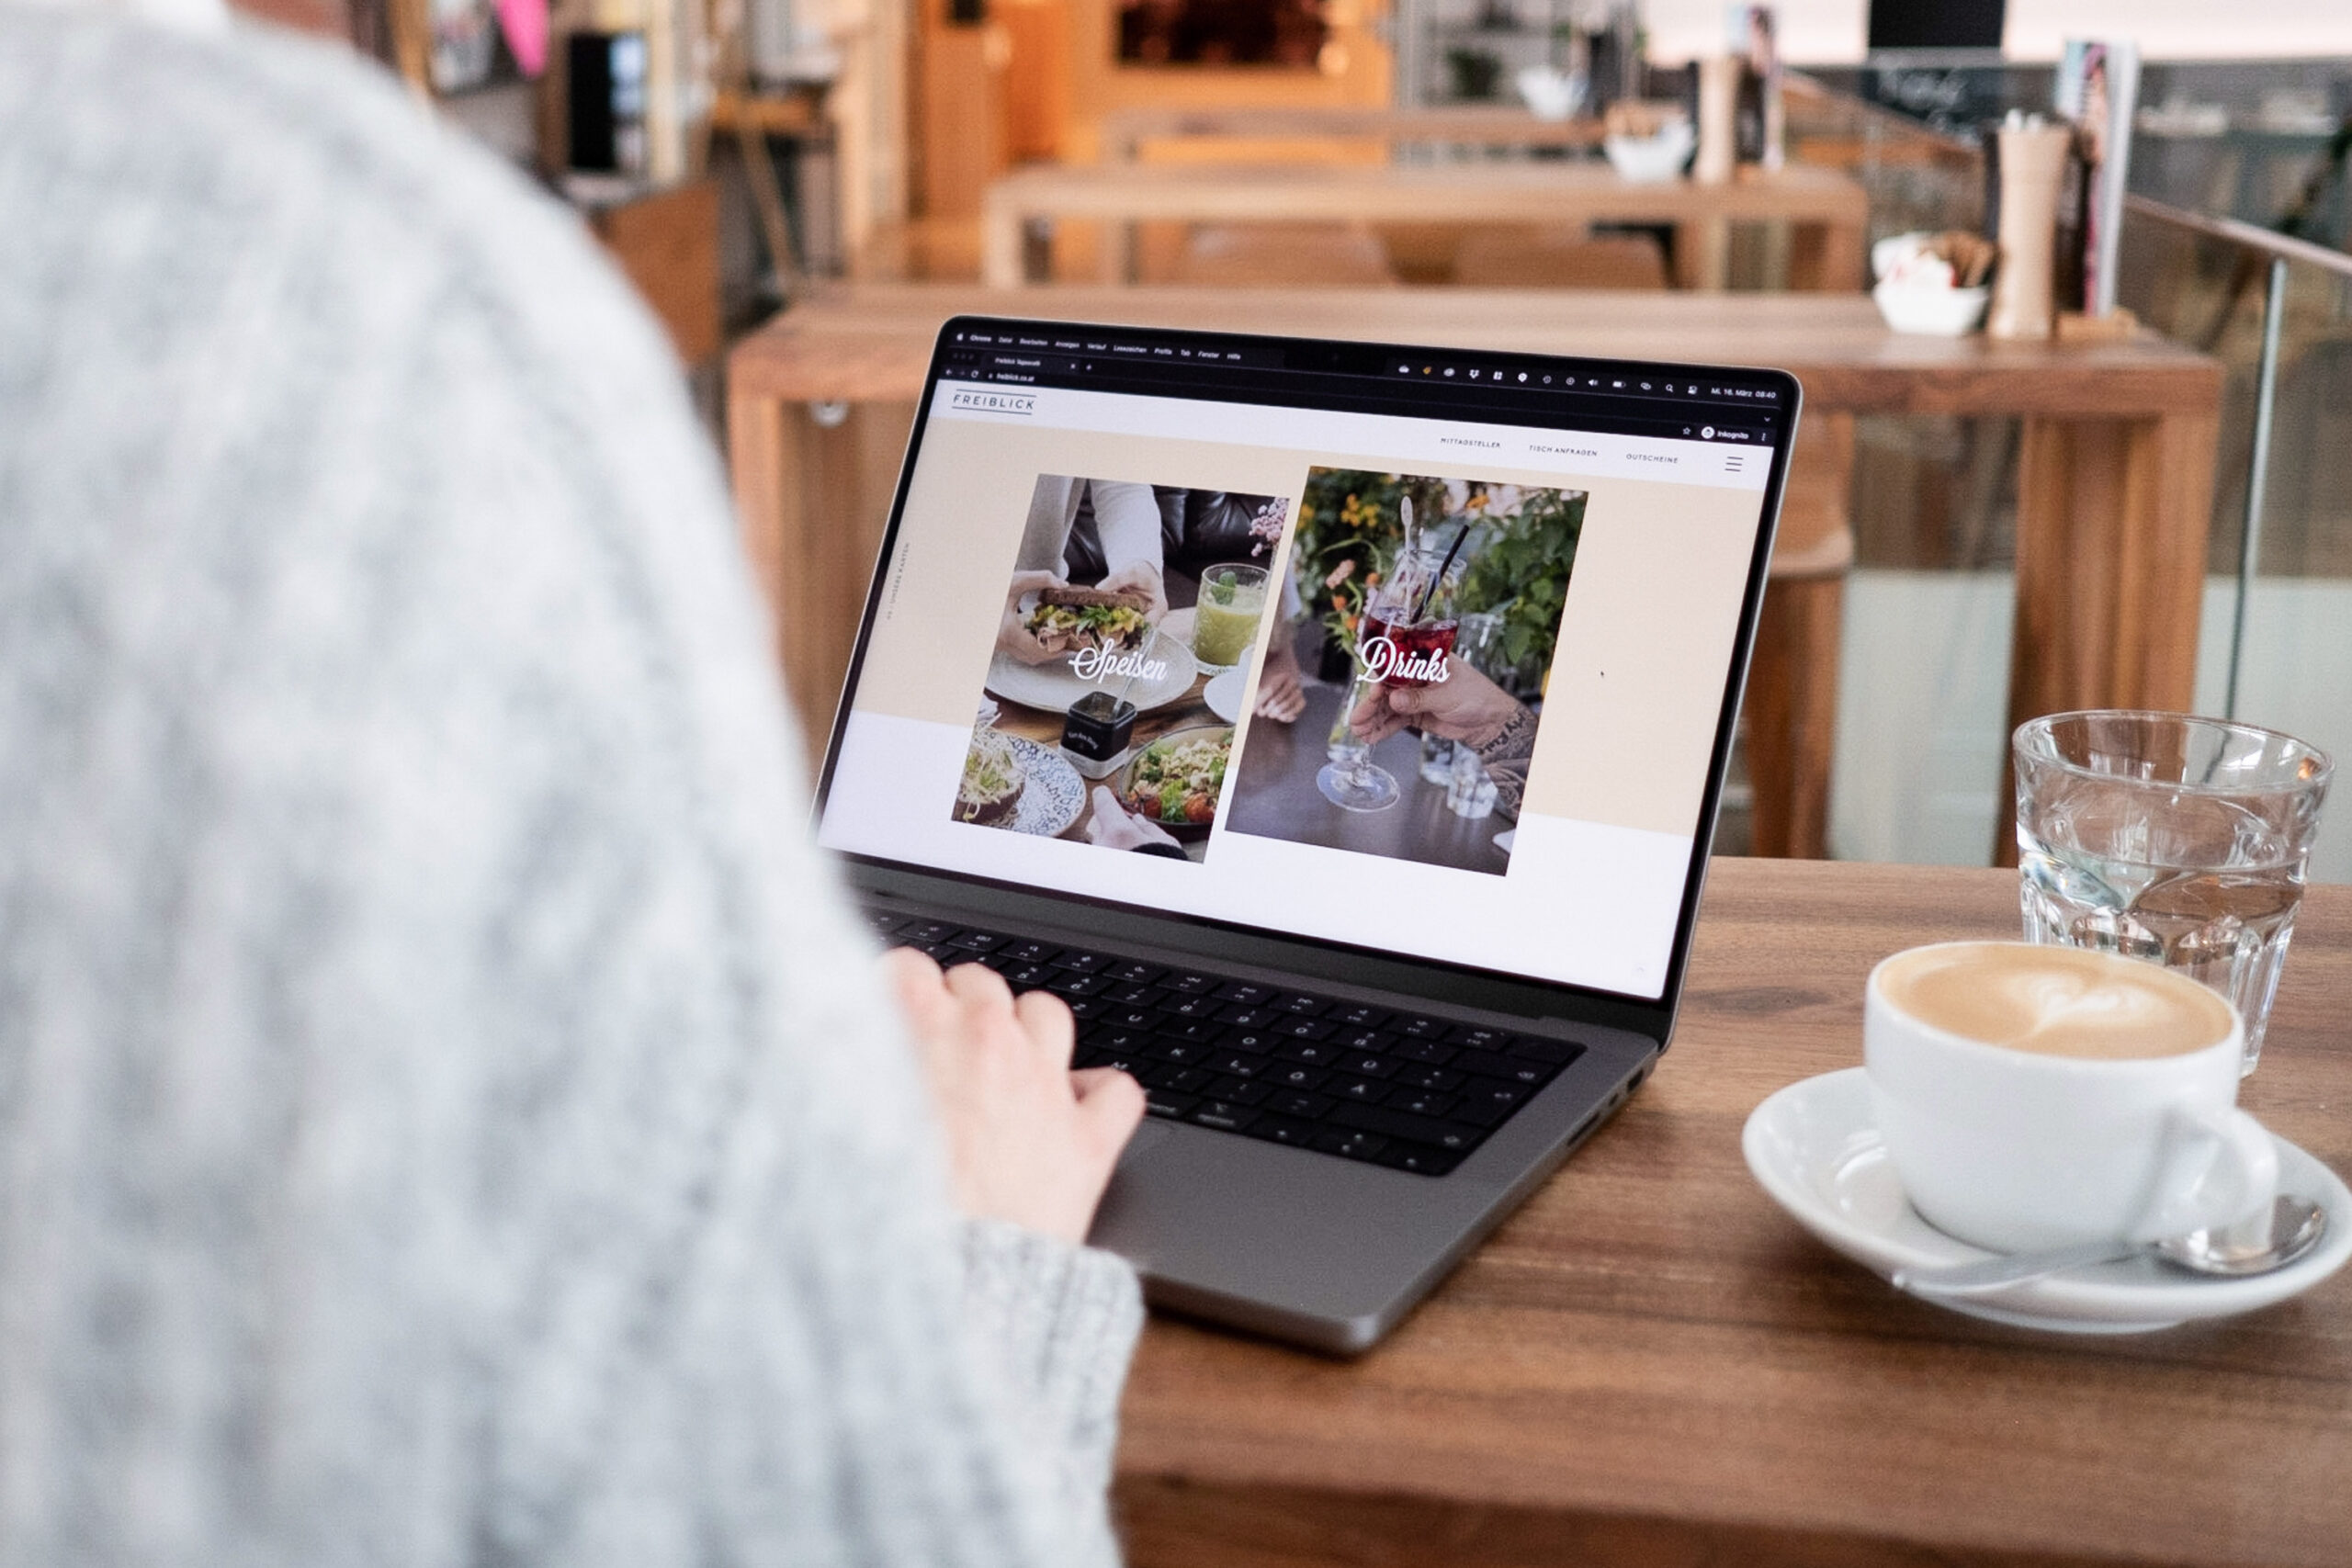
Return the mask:
[[1287, 496], [1040, 475], [953, 818], [1200, 863]]

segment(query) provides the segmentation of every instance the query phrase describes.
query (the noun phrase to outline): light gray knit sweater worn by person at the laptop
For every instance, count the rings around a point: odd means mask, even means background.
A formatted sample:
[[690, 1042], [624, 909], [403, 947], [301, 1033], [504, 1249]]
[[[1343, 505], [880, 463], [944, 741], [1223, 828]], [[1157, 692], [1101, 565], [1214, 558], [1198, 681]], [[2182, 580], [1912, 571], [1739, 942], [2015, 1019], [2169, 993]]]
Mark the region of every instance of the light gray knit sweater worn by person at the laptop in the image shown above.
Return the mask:
[[1082, 1563], [715, 463], [322, 49], [0, 7], [0, 1563]]

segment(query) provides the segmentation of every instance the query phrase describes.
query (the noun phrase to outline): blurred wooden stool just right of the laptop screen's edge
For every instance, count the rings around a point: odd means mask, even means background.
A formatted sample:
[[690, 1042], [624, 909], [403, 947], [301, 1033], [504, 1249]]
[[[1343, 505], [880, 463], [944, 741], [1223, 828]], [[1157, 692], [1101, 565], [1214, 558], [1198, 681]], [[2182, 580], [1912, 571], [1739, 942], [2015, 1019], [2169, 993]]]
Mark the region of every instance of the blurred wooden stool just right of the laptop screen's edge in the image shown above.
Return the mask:
[[1830, 752], [1837, 743], [1837, 654], [1853, 569], [1853, 416], [1806, 414], [1790, 454], [1748, 670], [1750, 853], [1830, 853]]

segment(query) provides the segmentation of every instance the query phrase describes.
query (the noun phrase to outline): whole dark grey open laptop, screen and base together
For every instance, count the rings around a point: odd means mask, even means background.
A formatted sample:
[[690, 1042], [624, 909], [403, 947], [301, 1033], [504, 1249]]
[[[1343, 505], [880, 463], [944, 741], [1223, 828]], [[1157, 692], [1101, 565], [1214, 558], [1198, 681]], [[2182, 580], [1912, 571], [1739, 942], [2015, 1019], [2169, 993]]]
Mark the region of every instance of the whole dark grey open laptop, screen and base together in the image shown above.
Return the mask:
[[816, 832], [884, 943], [1143, 1084], [1091, 1241], [1157, 1307], [1362, 1352], [1656, 1067], [1797, 407], [941, 329]]

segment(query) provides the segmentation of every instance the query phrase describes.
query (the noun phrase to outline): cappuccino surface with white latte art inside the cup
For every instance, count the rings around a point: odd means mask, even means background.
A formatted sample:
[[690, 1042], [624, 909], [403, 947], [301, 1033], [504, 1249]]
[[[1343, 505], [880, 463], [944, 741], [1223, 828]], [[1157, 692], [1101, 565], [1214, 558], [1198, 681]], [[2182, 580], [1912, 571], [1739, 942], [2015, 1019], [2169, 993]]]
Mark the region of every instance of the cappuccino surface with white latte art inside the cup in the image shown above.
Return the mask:
[[2072, 947], [1919, 947], [1889, 959], [1877, 983], [1889, 1004], [1924, 1025], [2037, 1056], [2187, 1056], [2232, 1030], [2230, 1004], [2204, 985]]

